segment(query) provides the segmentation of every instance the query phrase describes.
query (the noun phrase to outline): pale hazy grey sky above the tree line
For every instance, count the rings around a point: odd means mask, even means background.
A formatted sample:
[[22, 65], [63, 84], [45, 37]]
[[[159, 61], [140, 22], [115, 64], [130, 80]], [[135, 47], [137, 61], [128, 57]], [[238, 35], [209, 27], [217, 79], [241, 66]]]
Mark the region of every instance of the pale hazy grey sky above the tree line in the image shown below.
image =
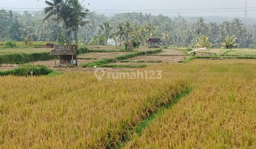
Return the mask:
[[[81, 0], [82, 1], [82, 0]], [[216, 9], [245, 7], [245, 0], [84, 0], [89, 10], [170, 10], [170, 9]], [[89, 3], [90, 6], [87, 4]], [[44, 0], [0, 0], [0, 7], [43, 8]], [[256, 0], [247, 0], [247, 7], [256, 7]], [[18, 10], [18, 9], [16, 9]], [[22, 10], [22, 9], [21, 9]], [[251, 9], [251, 10], [256, 10]], [[30, 10], [33, 11], [33, 10]], [[102, 12], [102, 11], [98, 11]], [[106, 11], [105, 11], [106, 12]], [[126, 11], [118, 11], [126, 12]], [[144, 11], [150, 12], [150, 11]], [[159, 12], [159, 11], [156, 11]], [[162, 11], [166, 12], [166, 11]], [[177, 11], [174, 11], [177, 12]], [[244, 17], [245, 12], [181, 13], [183, 16], [229, 16]], [[176, 16], [177, 13], [164, 15]], [[248, 17], [256, 17], [256, 11], [248, 11]]]

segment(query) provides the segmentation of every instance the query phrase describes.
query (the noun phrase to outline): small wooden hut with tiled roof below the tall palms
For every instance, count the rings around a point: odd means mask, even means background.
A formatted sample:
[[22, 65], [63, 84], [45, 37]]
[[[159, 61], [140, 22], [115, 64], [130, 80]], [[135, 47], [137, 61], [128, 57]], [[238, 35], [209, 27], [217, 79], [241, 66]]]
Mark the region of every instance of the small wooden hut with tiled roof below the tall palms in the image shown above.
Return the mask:
[[55, 45], [54, 49], [50, 52], [50, 55], [55, 56], [55, 66], [56, 56], [60, 57], [60, 62], [58, 66], [77, 66], [78, 59], [78, 45]]

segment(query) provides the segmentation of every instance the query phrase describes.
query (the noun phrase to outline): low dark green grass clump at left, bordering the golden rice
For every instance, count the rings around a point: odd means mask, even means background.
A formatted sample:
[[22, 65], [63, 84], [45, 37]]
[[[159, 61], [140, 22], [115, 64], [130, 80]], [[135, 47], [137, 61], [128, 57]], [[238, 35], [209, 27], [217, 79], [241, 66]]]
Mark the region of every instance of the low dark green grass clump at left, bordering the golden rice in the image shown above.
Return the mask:
[[30, 76], [31, 71], [33, 71], [33, 76], [43, 76], [53, 72], [53, 70], [43, 65], [37, 65], [37, 66], [26, 65], [26, 66], [20, 66], [13, 70], [0, 71], [0, 76], [7, 76], [7, 75]]

